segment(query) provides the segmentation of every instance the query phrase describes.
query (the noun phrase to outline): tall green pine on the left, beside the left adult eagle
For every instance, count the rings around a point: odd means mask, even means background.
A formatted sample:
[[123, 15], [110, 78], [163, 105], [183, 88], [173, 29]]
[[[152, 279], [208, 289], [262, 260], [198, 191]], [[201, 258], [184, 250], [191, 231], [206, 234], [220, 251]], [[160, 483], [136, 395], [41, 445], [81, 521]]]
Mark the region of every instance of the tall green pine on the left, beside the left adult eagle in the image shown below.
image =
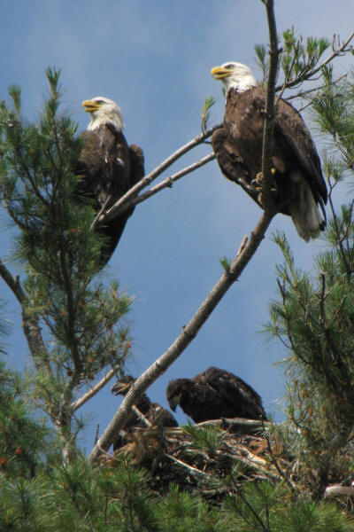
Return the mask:
[[9, 90], [12, 106], [1, 106], [1, 199], [18, 230], [13, 258], [25, 276], [19, 283], [1, 267], [21, 305], [35, 364], [28, 375], [31, 394], [68, 456], [81, 428], [77, 396], [105, 370], [118, 371], [127, 357], [124, 318], [132, 299], [120, 293], [118, 281], [96, 281], [101, 241], [91, 230], [95, 212], [75, 200], [81, 139], [59, 111], [59, 72], [49, 69], [47, 77], [50, 98], [37, 123], [22, 117], [18, 87]]

